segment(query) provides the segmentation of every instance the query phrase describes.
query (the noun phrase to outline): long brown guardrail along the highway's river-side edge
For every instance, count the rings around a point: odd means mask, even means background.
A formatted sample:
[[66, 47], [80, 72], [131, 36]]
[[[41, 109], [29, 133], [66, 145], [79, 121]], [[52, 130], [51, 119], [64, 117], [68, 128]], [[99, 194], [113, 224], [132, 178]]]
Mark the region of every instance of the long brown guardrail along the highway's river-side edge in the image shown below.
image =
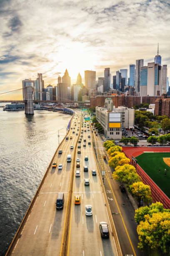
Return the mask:
[[[75, 115], [75, 113], [72, 115], [72, 118], [73, 118], [74, 115]], [[67, 136], [67, 134], [65, 135], [65, 137], [66, 137], [66, 136]], [[8, 248], [8, 250], [7, 250], [6, 254], [5, 254], [5, 256], [8, 256], [8, 255], [10, 255], [10, 254], [12, 253], [16, 241], [20, 238], [20, 233], [22, 232], [22, 229], [23, 229], [23, 227], [24, 227], [24, 225], [25, 225], [25, 222], [26, 222], [26, 220], [27, 220], [27, 218], [28, 218], [28, 215], [30, 214], [30, 211], [31, 211], [31, 209], [32, 209], [32, 207], [33, 207], [33, 205], [34, 205], [34, 202], [35, 202], [35, 200], [37, 199], [37, 196], [38, 196], [38, 194], [39, 194], [39, 192], [40, 192], [40, 189], [42, 188], [42, 184], [43, 184], [45, 178], [47, 177], [47, 174], [48, 174], [48, 172], [49, 172], [49, 170], [50, 170], [50, 167], [51, 167], [51, 165], [52, 165], [52, 163], [53, 163], [53, 161], [54, 161], [55, 155], [57, 154], [58, 148], [61, 146], [62, 142], [65, 140], [65, 137], [62, 139], [62, 141], [61, 141], [60, 144], [58, 145], [58, 147], [57, 147], [57, 149], [56, 149], [56, 151], [55, 151], [55, 154], [53, 155], [52, 160], [50, 161], [50, 164], [49, 164], [48, 167], [47, 167], [47, 171], [45, 172], [44, 177], [42, 178], [42, 181], [40, 182], [40, 185], [39, 185], [39, 187], [37, 188], [37, 191], [36, 191], [36, 193], [35, 193], [35, 196], [33, 197], [32, 202], [30, 203], [30, 206], [28, 207], [28, 210], [27, 210], [27, 212], [25, 213], [25, 216], [24, 216], [24, 218], [23, 218], [23, 220], [22, 220], [22, 222], [21, 222], [21, 224], [20, 224], [20, 226], [19, 226], [19, 228], [18, 228], [18, 230], [17, 230], [17, 233], [15, 234], [15, 236], [14, 236], [14, 238], [13, 238], [13, 241], [11, 242], [10, 247]]]

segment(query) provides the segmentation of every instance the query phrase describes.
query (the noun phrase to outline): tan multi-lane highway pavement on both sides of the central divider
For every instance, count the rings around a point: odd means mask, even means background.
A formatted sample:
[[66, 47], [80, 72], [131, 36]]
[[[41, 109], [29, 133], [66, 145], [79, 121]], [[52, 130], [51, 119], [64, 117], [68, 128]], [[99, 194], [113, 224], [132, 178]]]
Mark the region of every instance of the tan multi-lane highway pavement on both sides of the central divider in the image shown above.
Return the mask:
[[[80, 115], [80, 112], [77, 112]], [[77, 119], [76, 119], [77, 118]], [[76, 126], [74, 125], [76, 122]], [[80, 122], [80, 124], [78, 124]], [[70, 174], [73, 161], [74, 150], [76, 150], [76, 158], [80, 157], [80, 177], [73, 178], [73, 193], [71, 204], [71, 224], [68, 234], [68, 254], [96, 255], [96, 256], [110, 256], [118, 255], [115, 248], [115, 241], [111, 234], [110, 222], [105, 207], [105, 200], [103, 197], [100, 179], [97, 176], [92, 176], [91, 170], [96, 169], [95, 155], [92, 150], [92, 145], [88, 145], [88, 141], [92, 143], [91, 131], [83, 132], [83, 139], [81, 142], [81, 154], [77, 154], [75, 145], [79, 137], [76, 136], [77, 126], [80, 126], [81, 131], [81, 116], [75, 116], [72, 119], [71, 127], [67, 136], [69, 140], [63, 141], [59, 149], [62, 154], [56, 154], [55, 161], [57, 161], [57, 168], [51, 168], [42, 185], [40, 193], [33, 205], [33, 208], [28, 215], [28, 219], [20, 234], [20, 238], [16, 241], [13, 255], [61, 255], [62, 236], [65, 225], [65, 214], [67, 207], [68, 188], [70, 183]], [[85, 129], [83, 127], [83, 129]], [[86, 127], [87, 130], [87, 127]], [[72, 134], [72, 131], [75, 131]], [[80, 132], [79, 131], [79, 132]], [[88, 135], [91, 138], [87, 138]], [[70, 139], [70, 136], [73, 138]], [[83, 140], [86, 138], [86, 147], [83, 147]], [[73, 145], [74, 149], [70, 150]], [[67, 154], [72, 155], [71, 163], [67, 163]], [[88, 156], [89, 160], [85, 161], [84, 157]], [[58, 170], [58, 165], [63, 164], [63, 169]], [[83, 166], [87, 165], [89, 171], [83, 172]], [[76, 165], [74, 167], [74, 173]], [[78, 169], [78, 168], [77, 168]], [[96, 169], [97, 171], [97, 169]], [[90, 186], [85, 187], [84, 178], [90, 179]], [[61, 211], [57, 211], [55, 202], [57, 193], [64, 192], [65, 203]], [[74, 196], [81, 196], [81, 205], [74, 205]], [[92, 205], [93, 215], [85, 215], [85, 205]], [[106, 221], [109, 224], [110, 239], [103, 240], [100, 237], [99, 222]], [[66, 254], [65, 254], [66, 255]], [[120, 254], [121, 255], [121, 254]]]

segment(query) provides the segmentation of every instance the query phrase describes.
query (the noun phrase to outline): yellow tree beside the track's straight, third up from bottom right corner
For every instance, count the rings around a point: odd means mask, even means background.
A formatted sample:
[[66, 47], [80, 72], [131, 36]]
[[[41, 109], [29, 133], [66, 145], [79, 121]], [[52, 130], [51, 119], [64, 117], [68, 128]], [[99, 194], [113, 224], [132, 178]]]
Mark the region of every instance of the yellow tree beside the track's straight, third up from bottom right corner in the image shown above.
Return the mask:
[[129, 191], [138, 200], [140, 205], [140, 200], [148, 203], [152, 201], [150, 186], [145, 185], [143, 182], [135, 182], [129, 186]]

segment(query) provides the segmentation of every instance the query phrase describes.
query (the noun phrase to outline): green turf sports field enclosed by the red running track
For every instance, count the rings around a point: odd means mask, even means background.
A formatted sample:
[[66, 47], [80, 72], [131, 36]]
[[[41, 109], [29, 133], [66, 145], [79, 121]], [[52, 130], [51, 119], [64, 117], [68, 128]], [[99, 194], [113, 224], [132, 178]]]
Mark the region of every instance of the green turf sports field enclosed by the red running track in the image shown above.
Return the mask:
[[164, 157], [170, 157], [170, 153], [143, 153], [136, 159], [148, 176], [170, 198], [170, 166], [165, 164]]

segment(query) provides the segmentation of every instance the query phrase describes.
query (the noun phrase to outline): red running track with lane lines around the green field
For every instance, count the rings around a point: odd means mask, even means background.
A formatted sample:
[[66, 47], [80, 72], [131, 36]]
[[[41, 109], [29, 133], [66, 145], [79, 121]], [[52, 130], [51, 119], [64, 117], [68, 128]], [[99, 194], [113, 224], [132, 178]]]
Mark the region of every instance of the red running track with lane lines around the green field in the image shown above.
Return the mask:
[[[170, 147], [122, 147], [125, 155], [130, 158], [130, 163], [132, 164], [132, 156], [136, 157], [143, 154], [146, 151], [149, 152], [170, 152]], [[153, 202], [161, 202], [163, 203], [164, 208], [170, 209], [170, 199], [165, 195], [165, 193], [158, 187], [158, 185], [145, 173], [145, 171], [137, 164], [136, 171], [140, 175], [144, 184], [150, 186]]]

